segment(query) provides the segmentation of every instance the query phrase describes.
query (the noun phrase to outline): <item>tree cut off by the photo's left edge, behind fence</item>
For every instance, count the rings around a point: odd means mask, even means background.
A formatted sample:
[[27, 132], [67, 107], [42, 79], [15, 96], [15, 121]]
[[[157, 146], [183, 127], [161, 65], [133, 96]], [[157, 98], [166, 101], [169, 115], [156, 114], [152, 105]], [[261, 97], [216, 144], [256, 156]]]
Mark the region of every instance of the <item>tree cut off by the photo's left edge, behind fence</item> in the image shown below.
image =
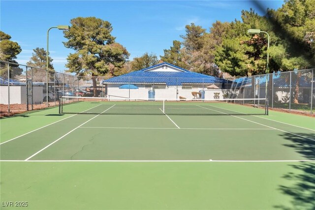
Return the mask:
[[[22, 52], [20, 45], [17, 42], [11, 41], [9, 34], [0, 31], [0, 60], [17, 63], [16, 56]], [[18, 65], [13, 66], [10, 64], [9, 74], [7, 75], [7, 68], [3, 63], [0, 64], [0, 75], [5, 78], [14, 78], [16, 75], [21, 75], [23, 72], [22, 68]]]

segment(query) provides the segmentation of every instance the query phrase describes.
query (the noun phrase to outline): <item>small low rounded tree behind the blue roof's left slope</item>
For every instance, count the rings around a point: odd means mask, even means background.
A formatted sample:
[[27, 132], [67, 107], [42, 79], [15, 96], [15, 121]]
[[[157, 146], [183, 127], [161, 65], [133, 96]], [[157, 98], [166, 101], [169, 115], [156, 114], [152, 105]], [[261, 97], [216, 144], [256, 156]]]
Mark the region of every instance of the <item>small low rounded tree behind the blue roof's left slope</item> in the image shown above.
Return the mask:
[[145, 53], [141, 57], [136, 57], [131, 61], [131, 71], [140, 70], [158, 64], [158, 57], [156, 54]]

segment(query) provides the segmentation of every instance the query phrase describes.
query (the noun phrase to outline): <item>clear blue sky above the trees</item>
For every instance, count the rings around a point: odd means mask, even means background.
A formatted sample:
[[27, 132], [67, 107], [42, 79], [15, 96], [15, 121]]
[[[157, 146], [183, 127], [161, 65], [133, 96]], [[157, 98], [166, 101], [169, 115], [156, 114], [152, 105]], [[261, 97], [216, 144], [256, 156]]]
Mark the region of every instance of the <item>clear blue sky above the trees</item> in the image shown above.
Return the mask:
[[[277, 9], [283, 0], [261, 1], [267, 8]], [[112, 24], [116, 42], [126, 47], [130, 60], [145, 52], [155, 53], [158, 58], [163, 49], [169, 49], [173, 40], [182, 40], [185, 25], [194, 23], [209, 30], [216, 20], [231, 22], [240, 20], [243, 9], [255, 9], [249, 0], [202, 0], [202, 1], [84, 1], [84, 0], [1, 0], [0, 30], [12, 36], [22, 48], [17, 61], [25, 64], [36, 47], [46, 49], [46, 34], [50, 27], [70, 25], [76, 17], [94, 16]], [[256, 9], [258, 14], [263, 15]], [[63, 32], [49, 32], [49, 52], [56, 71], [63, 72], [66, 58], [72, 50], [63, 46]]]

